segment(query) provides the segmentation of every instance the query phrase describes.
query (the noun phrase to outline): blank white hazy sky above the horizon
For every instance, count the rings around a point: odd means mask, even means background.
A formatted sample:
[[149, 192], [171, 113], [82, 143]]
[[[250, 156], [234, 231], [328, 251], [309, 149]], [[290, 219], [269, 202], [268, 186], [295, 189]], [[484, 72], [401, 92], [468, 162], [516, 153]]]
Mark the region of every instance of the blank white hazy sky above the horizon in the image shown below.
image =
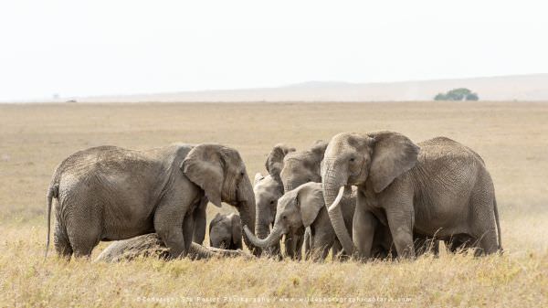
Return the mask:
[[0, 2], [0, 100], [548, 72], [545, 1]]

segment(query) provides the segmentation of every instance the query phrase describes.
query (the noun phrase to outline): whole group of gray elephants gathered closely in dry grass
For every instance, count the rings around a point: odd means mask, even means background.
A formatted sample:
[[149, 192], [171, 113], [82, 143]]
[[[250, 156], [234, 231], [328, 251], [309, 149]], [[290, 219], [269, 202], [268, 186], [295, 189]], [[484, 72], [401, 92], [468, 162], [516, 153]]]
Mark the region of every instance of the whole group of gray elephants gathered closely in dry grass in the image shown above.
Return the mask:
[[[111, 240], [98, 260], [300, 260], [303, 248], [311, 260], [330, 250], [336, 260], [414, 258], [437, 254], [439, 240], [450, 251], [502, 250], [485, 163], [446, 137], [413, 143], [395, 132], [339, 133], [304, 151], [279, 143], [266, 169], [251, 184], [237, 150], [209, 143], [77, 152], [47, 189], [47, 248], [55, 198], [54, 244], [66, 258], [90, 257]], [[239, 215], [217, 214], [206, 248], [206, 206], [222, 202]]]

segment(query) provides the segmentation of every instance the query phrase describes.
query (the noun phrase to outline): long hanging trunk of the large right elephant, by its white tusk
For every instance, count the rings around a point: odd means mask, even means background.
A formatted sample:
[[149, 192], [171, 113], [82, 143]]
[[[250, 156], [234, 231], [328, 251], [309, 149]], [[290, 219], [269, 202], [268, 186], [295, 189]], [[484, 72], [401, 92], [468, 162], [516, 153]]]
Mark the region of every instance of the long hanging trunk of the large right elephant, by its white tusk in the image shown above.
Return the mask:
[[325, 163], [325, 166], [326, 172], [322, 175], [322, 186], [323, 198], [328, 210], [327, 212], [332, 222], [333, 230], [341, 242], [342, 248], [348, 255], [352, 256], [355, 247], [346, 225], [344, 224], [340, 204], [342, 195], [344, 195], [344, 190], [348, 189], [350, 186], [346, 186], [345, 176], [337, 173], [334, 168], [332, 168], [332, 165]]

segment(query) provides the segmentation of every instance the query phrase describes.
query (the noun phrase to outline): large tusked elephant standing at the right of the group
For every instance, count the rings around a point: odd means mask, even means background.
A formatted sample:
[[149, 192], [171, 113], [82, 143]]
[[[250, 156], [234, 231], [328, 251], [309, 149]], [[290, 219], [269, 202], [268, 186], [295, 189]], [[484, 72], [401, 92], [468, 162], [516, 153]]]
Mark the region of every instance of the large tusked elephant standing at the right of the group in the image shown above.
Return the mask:
[[[469, 239], [482, 253], [502, 249], [490, 174], [478, 154], [448, 138], [416, 145], [394, 132], [340, 133], [326, 149], [321, 175], [337, 238], [359, 258], [371, 257], [374, 218], [388, 226], [404, 258], [416, 256], [414, 232]], [[352, 238], [336, 202], [350, 186], [358, 187]]]

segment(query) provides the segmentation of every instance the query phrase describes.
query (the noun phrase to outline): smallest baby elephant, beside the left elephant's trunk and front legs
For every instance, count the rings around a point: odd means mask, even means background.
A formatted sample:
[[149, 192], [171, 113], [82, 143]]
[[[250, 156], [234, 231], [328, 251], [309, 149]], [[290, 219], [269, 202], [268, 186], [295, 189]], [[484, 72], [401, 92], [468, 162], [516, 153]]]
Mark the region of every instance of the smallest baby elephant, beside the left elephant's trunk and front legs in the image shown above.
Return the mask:
[[239, 215], [218, 214], [209, 223], [209, 246], [224, 250], [242, 249], [242, 222]]

